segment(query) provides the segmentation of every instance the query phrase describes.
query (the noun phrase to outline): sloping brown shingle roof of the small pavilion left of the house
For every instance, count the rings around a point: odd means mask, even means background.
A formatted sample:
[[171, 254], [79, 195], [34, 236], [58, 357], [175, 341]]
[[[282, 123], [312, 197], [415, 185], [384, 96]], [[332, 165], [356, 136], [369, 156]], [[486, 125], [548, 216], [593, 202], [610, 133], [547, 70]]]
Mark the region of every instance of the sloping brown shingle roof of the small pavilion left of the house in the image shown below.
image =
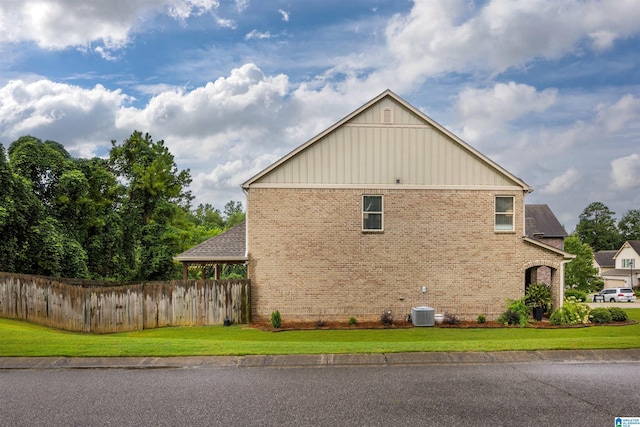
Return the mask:
[[181, 262], [246, 261], [246, 241], [246, 223], [243, 221], [173, 259]]

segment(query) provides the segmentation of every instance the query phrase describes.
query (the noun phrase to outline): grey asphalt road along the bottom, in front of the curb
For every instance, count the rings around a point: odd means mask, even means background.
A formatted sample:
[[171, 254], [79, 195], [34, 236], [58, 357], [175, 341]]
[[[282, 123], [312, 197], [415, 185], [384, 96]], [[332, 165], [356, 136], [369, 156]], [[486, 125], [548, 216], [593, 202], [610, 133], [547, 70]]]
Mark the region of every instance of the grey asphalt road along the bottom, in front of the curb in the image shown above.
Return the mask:
[[0, 369], [2, 426], [613, 426], [640, 362]]

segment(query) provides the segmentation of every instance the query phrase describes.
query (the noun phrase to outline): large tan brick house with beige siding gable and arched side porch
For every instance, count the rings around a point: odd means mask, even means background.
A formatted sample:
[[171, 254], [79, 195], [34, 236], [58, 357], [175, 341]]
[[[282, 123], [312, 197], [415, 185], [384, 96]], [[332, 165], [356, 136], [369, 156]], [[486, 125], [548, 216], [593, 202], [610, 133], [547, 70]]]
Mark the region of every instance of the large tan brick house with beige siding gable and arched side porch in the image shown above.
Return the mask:
[[525, 232], [532, 188], [391, 91], [242, 187], [252, 320], [495, 319], [541, 266], [561, 304], [574, 256]]

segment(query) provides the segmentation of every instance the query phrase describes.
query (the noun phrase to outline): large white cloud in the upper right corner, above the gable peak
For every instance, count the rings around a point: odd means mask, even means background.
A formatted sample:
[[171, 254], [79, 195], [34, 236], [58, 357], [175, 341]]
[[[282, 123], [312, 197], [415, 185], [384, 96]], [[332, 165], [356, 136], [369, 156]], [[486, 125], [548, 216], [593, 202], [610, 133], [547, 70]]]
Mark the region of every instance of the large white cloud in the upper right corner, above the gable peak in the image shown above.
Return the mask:
[[640, 29], [636, 1], [417, 1], [387, 26], [402, 79], [446, 71], [500, 73], [537, 59], [596, 50]]

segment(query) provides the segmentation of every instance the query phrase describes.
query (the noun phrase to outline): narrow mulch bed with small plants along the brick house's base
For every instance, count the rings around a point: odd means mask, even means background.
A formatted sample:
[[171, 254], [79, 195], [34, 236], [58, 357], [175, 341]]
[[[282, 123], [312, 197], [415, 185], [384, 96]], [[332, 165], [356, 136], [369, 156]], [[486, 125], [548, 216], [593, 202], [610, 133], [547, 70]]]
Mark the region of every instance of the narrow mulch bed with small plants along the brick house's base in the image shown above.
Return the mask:
[[[627, 320], [625, 322], [611, 322], [606, 325], [598, 325], [590, 323], [587, 325], [561, 325], [554, 326], [549, 322], [549, 319], [544, 318], [540, 322], [532, 321], [526, 328], [533, 329], [563, 329], [563, 328], [589, 328], [593, 326], [626, 326], [635, 325], [638, 322], [635, 320]], [[260, 329], [262, 331], [272, 332], [284, 332], [284, 331], [309, 331], [309, 330], [349, 330], [349, 329], [409, 329], [413, 328], [413, 324], [407, 321], [394, 321], [392, 325], [385, 326], [381, 322], [358, 322], [356, 325], [348, 325], [347, 322], [282, 322], [280, 329], [274, 329], [270, 323], [251, 323], [249, 325], [252, 328]], [[519, 328], [517, 325], [503, 325], [498, 322], [485, 322], [478, 323], [476, 321], [463, 321], [458, 324], [439, 324], [435, 325], [436, 328], [458, 328], [458, 329], [486, 329], [486, 328]], [[422, 327], [420, 327], [422, 328]]]

